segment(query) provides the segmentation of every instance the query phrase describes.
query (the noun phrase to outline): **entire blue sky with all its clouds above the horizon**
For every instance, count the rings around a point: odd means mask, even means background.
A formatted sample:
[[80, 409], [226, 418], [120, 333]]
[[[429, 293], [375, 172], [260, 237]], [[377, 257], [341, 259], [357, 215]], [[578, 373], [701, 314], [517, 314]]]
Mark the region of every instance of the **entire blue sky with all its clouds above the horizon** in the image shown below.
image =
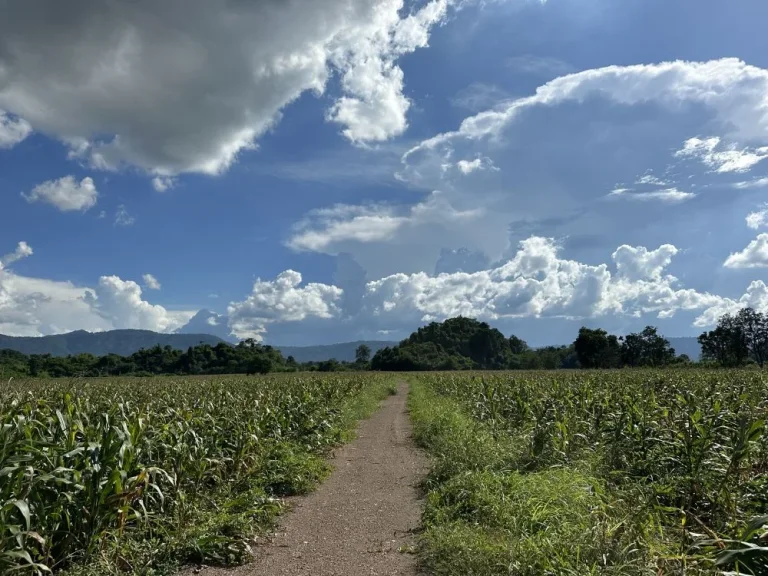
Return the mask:
[[0, 333], [768, 312], [761, 0], [0, 0]]

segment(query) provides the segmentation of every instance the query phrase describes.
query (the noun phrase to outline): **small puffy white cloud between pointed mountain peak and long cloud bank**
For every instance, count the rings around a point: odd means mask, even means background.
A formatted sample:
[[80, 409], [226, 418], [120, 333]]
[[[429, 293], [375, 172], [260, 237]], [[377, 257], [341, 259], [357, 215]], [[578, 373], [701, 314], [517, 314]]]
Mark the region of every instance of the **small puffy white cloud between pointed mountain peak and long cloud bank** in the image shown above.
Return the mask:
[[267, 325], [298, 322], [307, 317], [332, 318], [339, 313], [337, 302], [343, 290], [327, 284], [301, 286], [301, 274], [286, 270], [274, 280], [258, 279], [251, 294], [227, 307], [229, 327], [238, 338], [261, 340]]

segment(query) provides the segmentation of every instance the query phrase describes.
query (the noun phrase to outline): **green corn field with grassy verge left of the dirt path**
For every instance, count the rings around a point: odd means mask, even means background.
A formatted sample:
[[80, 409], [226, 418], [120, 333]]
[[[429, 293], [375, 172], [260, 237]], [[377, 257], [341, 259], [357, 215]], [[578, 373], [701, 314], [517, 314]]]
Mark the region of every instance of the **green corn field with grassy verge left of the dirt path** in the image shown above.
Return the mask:
[[156, 574], [169, 558], [242, 561], [278, 497], [325, 473], [319, 455], [349, 429], [346, 407], [382, 382], [345, 374], [8, 383], [0, 573], [103, 565]]

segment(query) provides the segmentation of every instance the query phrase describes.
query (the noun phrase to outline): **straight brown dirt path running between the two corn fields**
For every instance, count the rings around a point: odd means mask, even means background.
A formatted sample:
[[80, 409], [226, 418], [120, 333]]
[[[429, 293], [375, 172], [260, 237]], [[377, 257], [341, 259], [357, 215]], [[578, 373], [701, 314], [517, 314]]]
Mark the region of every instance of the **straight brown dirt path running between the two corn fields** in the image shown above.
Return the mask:
[[407, 385], [386, 399], [336, 451], [333, 474], [297, 498], [253, 563], [204, 569], [207, 576], [393, 576], [416, 574], [413, 544], [422, 503], [416, 484], [426, 461], [411, 440]]

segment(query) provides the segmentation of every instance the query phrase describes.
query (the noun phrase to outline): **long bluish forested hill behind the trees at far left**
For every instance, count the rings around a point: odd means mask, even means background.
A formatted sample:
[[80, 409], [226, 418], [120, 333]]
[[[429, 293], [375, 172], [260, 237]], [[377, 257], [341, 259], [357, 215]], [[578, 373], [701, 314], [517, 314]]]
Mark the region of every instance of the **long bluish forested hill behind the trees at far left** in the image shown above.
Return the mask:
[[0, 334], [0, 350], [15, 350], [22, 354], [50, 354], [69, 356], [93, 354], [106, 356], [118, 354], [130, 356], [134, 352], [154, 346], [170, 346], [174, 350], [186, 350], [190, 346], [209, 344], [215, 346], [223, 340], [210, 334], [159, 334], [149, 330], [109, 330], [86, 332], [78, 330], [55, 336], [4, 336]]

